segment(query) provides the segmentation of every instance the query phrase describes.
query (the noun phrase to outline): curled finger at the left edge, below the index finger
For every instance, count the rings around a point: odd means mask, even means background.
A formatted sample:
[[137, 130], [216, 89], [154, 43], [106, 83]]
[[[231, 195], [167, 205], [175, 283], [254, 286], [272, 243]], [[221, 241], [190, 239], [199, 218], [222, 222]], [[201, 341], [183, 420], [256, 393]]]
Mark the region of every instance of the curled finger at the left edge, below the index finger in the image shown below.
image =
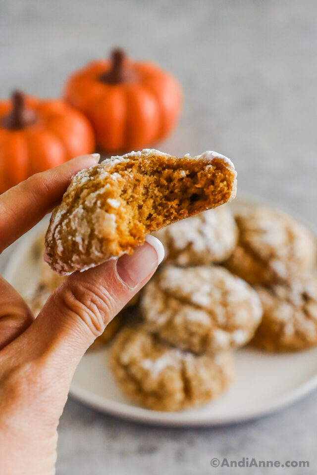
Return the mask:
[[0, 277], [0, 349], [23, 333], [33, 320], [22, 297]]

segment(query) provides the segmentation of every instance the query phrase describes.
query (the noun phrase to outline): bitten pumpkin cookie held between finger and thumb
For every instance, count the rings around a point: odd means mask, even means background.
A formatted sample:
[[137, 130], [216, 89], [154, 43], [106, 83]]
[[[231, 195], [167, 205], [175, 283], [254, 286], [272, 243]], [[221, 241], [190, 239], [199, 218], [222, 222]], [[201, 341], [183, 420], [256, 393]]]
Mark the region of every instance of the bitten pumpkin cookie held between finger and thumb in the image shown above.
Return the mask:
[[230, 201], [236, 172], [223, 155], [145, 149], [80, 171], [46, 235], [46, 262], [67, 275], [133, 252], [147, 234]]

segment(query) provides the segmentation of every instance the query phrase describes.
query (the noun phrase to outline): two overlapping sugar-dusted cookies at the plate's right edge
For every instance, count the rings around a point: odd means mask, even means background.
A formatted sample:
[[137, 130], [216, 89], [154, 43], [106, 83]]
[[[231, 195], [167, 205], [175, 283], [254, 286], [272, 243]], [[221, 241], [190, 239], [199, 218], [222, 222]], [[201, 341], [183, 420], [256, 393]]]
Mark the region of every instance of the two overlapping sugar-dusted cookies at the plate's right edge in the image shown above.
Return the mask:
[[276, 352], [316, 345], [315, 238], [272, 208], [245, 208], [235, 219], [239, 239], [226, 267], [254, 285], [260, 295], [263, 320], [253, 343]]

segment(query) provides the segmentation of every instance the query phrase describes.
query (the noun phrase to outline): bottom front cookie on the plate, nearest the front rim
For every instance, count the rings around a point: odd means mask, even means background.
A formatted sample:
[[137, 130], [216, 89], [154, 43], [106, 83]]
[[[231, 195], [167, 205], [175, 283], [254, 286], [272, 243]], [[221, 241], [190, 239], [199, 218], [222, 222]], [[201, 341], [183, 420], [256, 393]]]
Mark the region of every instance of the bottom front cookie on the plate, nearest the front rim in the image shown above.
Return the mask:
[[227, 388], [233, 375], [231, 353], [212, 357], [181, 351], [159, 340], [143, 325], [122, 330], [109, 358], [122, 392], [157, 411], [206, 404]]

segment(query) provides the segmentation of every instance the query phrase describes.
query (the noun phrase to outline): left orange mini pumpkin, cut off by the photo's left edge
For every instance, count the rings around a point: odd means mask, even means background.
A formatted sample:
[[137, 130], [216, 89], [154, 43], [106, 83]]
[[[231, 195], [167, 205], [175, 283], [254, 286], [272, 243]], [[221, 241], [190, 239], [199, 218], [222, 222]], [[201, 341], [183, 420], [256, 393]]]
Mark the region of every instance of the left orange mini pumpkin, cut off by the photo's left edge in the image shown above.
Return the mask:
[[94, 147], [89, 121], [64, 101], [18, 91], [0, 101], [0, 193]]

